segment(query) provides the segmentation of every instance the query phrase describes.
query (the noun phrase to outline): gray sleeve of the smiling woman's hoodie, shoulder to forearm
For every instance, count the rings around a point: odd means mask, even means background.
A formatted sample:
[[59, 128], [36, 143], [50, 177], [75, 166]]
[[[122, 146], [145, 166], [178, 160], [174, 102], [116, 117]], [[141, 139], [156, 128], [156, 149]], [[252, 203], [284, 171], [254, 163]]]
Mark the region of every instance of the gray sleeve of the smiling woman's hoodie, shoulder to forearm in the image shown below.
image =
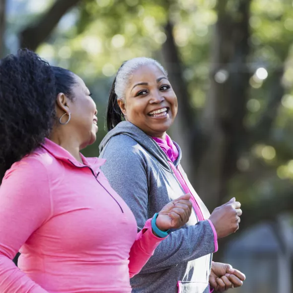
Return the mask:
[[[120, 137], [120, 138], [119, 138]], [[148, 219], [147, 162], [137, 144], [127, 145], [126, 136], [115, 136], [104, 147], [101, 167], [112, 188], [131, 208], [141, 230]], [[159, 211], [158, 211], [159, 212]], [[141, 273], [153, 273], [197, 259], [215, 251], [214, 232], [208, 220], [169, 234], [154, 251]]]

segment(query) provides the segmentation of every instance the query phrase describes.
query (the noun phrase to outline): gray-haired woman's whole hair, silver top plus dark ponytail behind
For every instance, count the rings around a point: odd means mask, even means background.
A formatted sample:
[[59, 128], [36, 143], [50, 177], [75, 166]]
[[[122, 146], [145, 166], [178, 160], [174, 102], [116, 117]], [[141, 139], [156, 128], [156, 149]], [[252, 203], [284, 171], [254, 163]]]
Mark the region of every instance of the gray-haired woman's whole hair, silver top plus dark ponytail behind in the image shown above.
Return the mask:
[[165, 69], [156, 60], [151, 58], [139, 57], [124, 62], [116, 74], [109, 93], [106, 116], [108, 131], [125, 120], [117, 100], [125, 101], [125, 90], [129, 84], [132, 73], [145, 65], [155, 65], [167, 76]]

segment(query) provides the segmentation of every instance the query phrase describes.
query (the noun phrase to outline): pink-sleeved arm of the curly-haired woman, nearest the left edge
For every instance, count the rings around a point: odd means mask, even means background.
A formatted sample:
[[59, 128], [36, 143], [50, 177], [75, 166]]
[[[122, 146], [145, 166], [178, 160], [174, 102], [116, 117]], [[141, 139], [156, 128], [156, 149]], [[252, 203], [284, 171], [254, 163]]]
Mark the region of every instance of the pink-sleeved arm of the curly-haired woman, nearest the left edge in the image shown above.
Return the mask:
[[1, 293], [47, 293], [12, 259], [50, 214], [47, 172], [40, 162], [27, 158], [6, 172], [0, 186]]

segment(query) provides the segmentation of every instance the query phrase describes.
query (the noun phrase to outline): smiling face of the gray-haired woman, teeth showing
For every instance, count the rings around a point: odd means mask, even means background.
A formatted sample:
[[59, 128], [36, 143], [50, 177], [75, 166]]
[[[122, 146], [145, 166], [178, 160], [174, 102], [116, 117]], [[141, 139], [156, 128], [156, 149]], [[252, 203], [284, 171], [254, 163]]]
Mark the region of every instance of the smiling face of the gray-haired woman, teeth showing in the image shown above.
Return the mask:
[[143, 65], [130, 76], [125, 101], [118, 104], [125, 119], [152, 137], [164, 137], [178, 109], [167, 76], [154, 64]]

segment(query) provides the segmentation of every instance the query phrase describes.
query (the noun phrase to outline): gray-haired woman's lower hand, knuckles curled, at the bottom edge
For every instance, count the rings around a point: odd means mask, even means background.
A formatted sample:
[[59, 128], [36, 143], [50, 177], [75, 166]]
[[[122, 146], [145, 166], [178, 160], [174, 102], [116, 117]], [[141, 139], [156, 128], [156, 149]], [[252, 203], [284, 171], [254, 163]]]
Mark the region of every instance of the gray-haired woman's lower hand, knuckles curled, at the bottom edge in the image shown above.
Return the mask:
[[209, 283], [218, 292], [224, 292], [230, 288], [241, 287], [245, 275], [232, 268], [231, 265], [212, 262]]

